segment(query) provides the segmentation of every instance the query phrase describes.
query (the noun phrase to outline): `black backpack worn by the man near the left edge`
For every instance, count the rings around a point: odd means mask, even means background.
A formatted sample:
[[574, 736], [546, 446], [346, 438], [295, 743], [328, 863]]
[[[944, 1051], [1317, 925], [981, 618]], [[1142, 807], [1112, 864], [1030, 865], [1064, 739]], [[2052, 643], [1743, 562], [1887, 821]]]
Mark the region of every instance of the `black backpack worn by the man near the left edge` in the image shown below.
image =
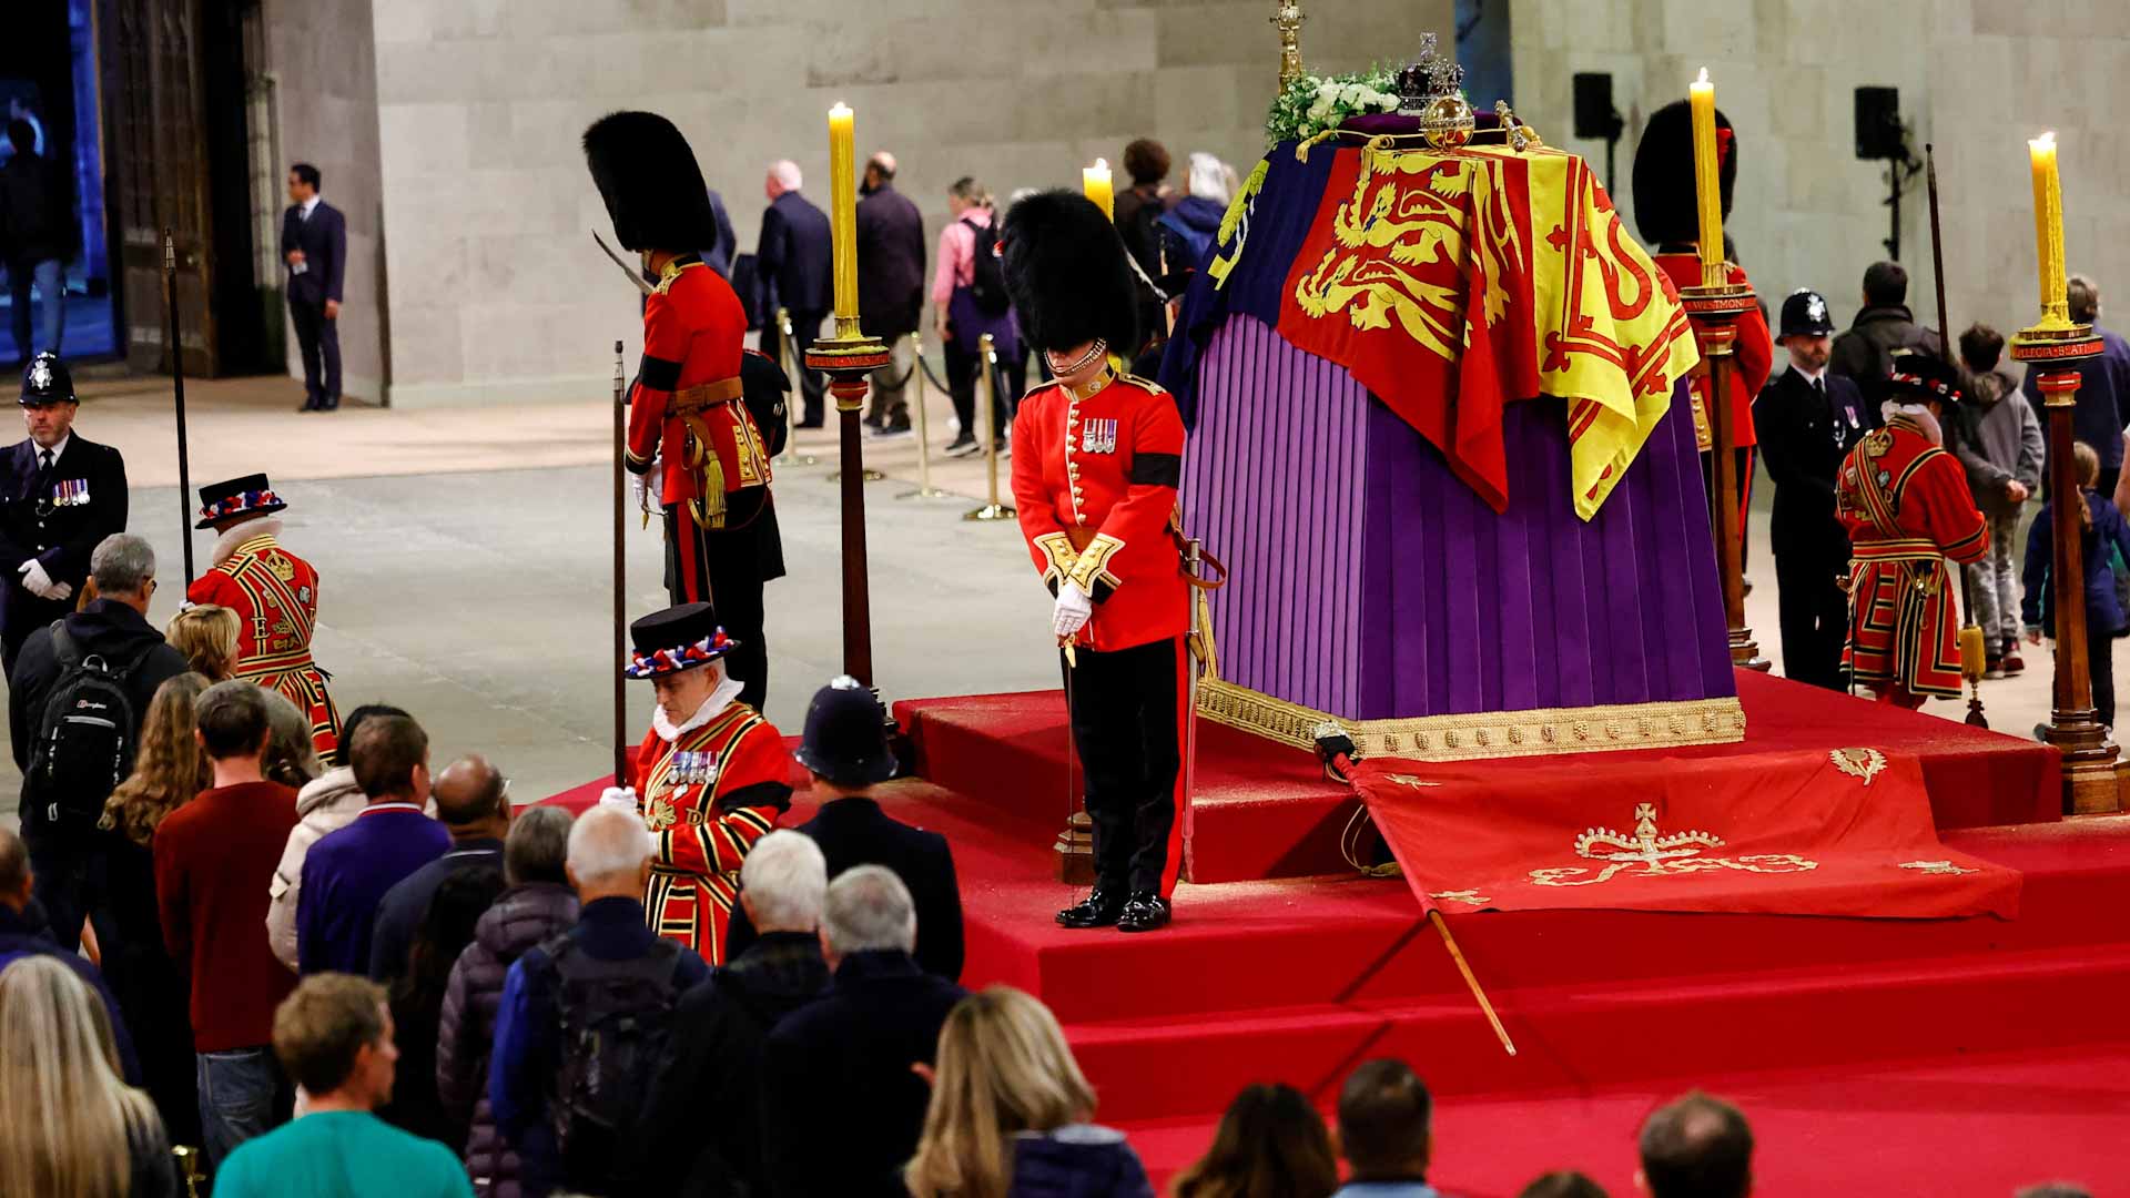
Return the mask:
[[158, 644], [147, 642], [132, 661], [113, 667], [102, 654], [83, 654], [64, 618], [51, 622], [60, 680], [45, 697], [30, 750], [30, 782], [51, 827], [96, 827], [104, 799], [132, 774], [141, 725], [126, 684]]

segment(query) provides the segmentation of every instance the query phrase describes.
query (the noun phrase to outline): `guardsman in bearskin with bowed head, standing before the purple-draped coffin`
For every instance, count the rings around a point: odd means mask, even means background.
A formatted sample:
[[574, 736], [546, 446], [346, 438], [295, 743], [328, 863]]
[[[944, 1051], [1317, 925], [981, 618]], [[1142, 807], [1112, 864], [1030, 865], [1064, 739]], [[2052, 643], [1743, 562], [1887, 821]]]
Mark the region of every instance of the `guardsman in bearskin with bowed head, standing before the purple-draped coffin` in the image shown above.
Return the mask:
[[1182, 863], [1191, 599], [1174, 520], [1184, 424], [1167, 392], [1112, 362], [1137, 345], [1137, 290], [1093, 200], [1020, 200], [1001, 247], [1020, 328], [1056, 375], [1014, 418], [1014, 507], [1056, 595], [1052, 631], [1095, 825], [1095, 889], [1056, 921], [1150, 932], [1169, 921]]

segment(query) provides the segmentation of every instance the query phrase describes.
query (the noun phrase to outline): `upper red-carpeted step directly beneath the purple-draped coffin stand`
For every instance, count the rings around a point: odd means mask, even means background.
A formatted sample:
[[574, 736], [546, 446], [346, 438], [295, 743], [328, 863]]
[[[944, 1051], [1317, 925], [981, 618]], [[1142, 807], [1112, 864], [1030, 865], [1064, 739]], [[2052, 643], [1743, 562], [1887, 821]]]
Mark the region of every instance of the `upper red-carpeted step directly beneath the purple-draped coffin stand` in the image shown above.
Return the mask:
[[[1921, 757], [1940, 829], [2062, 819], [2058, 752], [2045, 744], [1751, 669], [1738, 671], [1738, 699], [1747, 714], [1742, 742], [1587, 755], [1591, 767], [1627, 759], [1872, 746]], [[1065, 778], [1069, 735], [1061, 693], [910, 699], [895, 712], [916, 748], [916, 774], [1012, 808], [1014, 819], [1048, 823], [1052, 836], [1063, 827], [1076, 799]], [[1495, 767], [1517, 770], [1519, 759], [1502, 759]], [[1340, 833], [1357, 802], [1346, 787], [1325, 780], [1312, 752], [1199, 721], [1195, 795], [1184, 825], [1184, 878], [1193, 883], [1346, 868]]]

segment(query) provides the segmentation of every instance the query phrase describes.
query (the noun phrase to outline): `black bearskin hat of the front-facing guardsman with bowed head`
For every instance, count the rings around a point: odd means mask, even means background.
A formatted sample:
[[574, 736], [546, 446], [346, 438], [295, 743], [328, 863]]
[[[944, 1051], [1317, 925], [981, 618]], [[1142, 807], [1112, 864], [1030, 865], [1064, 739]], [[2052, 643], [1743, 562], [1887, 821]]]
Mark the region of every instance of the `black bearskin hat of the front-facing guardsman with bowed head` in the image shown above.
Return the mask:
[[1031, 345], [1063, 354], [1099, 337], [1112, 354], [1140, 350], [1140, 288], [1125, 239], [1095, 200], [1063, 188], [1020, 200], [1005, 213], [999, 254]]

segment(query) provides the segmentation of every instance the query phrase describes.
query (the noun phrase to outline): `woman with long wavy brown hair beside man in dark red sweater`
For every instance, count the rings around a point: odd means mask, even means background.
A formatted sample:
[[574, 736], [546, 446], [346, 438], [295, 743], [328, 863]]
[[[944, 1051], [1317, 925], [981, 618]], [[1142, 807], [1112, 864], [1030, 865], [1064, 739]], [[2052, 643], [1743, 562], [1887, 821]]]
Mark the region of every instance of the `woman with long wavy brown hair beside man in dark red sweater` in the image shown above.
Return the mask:
[[104, 799], [98, 821], [104, 917], [102, 970], [119, 1017], [134, 1036], [141, 1085], [179, 1143], [200, 1143], [200, 1087], [192, 1057], [185, 978], [162, 946], [155, 908], [155, 827], [207, 789], [192, 703], [207, 678], [179, 674], [155, 689], [141, 725], [134, 772]]

